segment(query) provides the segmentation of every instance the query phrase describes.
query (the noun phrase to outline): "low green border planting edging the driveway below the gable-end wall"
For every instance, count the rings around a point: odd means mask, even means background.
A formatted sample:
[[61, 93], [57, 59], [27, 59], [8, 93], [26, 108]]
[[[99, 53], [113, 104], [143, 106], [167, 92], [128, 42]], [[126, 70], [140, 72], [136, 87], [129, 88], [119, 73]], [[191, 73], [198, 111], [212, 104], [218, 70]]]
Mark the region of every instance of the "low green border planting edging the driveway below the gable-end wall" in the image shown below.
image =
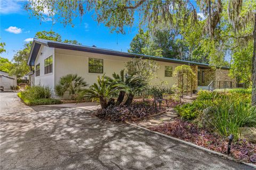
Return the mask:
[[36, 105], [54, 105], [54, 104], [61, 104], [62, 102], [58, 99], [52, 98], [44, 98], [44, 99], [27, 99], [22, 94], [22, 92], [18, 92], [18, 97], [28, 106], [36, 106]]

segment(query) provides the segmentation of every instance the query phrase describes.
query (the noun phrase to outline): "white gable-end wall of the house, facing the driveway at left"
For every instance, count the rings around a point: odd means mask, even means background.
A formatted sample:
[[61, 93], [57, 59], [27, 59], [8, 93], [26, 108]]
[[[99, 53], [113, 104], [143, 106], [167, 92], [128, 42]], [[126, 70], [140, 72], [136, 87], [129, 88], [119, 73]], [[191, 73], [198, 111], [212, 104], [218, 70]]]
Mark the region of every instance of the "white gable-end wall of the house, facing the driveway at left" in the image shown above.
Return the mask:
[[[42, 55], [41, 55], [42, 53]], [[48, 74], [44, 74], [44, 60], [52, 55], [52, 60], [53, 60], [53, 64], [52, 64], [52, 73], [48, 73]], [[54, 89], [54, 63], [55, 63], [55, 59], [54, 59], [54, 48], [50, 48], [50, 47], [46, 47], [46, 46], [41, 46], [39, 53], [36, 57], [36, 61], [35, 61], [35, 66], [40, 63], [40, 75], [39, 76], [35, 76], [35, 85], [41, 85], [41, 86], [49, 86], [50, 88], [52, 88], [52, 90]]]

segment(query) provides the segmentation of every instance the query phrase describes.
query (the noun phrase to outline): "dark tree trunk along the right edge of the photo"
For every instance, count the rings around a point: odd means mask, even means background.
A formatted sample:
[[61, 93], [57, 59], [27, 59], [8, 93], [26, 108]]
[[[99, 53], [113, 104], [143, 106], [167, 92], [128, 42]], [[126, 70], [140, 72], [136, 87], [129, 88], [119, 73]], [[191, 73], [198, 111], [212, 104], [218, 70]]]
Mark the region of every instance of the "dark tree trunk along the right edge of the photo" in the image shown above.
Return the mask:
[[256, 106], [256, 13], [254, 14], [253, 30], [253, 56], [252, 56], [252, 105]]

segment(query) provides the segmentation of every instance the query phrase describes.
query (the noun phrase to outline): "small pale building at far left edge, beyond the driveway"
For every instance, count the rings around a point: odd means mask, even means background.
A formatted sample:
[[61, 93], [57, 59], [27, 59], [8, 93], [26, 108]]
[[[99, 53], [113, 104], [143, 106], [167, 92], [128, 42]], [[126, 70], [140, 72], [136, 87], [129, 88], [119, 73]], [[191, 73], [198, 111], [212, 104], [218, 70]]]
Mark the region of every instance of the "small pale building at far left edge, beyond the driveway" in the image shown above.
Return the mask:
[[0, 71], [0, 89], [1, 91], [11, 91], [11, 86], [17, 86], [17, 77], [9, 73]]

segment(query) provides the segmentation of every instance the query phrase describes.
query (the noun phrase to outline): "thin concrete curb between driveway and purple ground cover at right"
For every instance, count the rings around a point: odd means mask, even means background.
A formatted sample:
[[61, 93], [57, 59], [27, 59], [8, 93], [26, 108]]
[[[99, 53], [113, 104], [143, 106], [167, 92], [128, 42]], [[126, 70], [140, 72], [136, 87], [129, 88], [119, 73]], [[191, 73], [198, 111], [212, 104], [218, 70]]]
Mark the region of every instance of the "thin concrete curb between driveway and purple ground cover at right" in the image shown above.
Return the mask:
[[183, 143], [183, 144], [185, 144], [185, 145], [188, 145], [188, 146], [190, 146], [190, 147], [194, 147], [194, 148], [197, 148], [197, 149], [206, 151], [206, 152], [208, 152], [209, 154], [213, 154], [213, 155], [217, 155], [217, 156], [220, 156], [220, 157], [222, 157], [222, 158], [225, 158], [225, 159], [233, 160], [233, 161], [235, 161], [235, 162], [238, 162], [238, 163], [241, 163], [241, 164], [245, 164], [245, 165], [251, 166], [251, 167], [253, 167], [253, 168], [256, 169], [256, 165], [254, 165], [254, 164], [245, 163], [245, 162], [239, 161], [239, 160], [234, 159], [234, 158], [232, 158], [232, 157], [230, 157], [230, 156], [228, 156], [228, 155], [221, 154], [221, 153], [219, 153], [219, 152], [216, 152], [216, 151], [213, 151], [213, 150], [210, 150], [210, 149], [207, 149], [207, 148], [204, 148], [204, 147], [195, 145], [194, 143], [190, 143], [190, 142], [187, 142], [187, 141], [183, 141], [183, 140], [181, 140], [181, 139], [178, 139], [178, 138], [171, 137], [171, 136], [166, 135], [166, 134], [163, 134], [163, 133], [151, 131], [151, 130], [149, 130], [149, 129], [143, 128], [143, 127], [138, 126], [138, 125], [131, 124], [131, 123], [129, 123], [129, 122], [126, 122], [126, 123], [127, 123], [127, 124], [130, 124], [130, 125], [132, 125], [132, 126], [135, 126], [135, 127], [137, 127], [137, 128], [140, 128], [140, 129], [149, 131], [149, 132], [151, 132], [151, 133], [155, 133], [155, 134], [161, 135], [161, 136], [163, 136], [163, 137], [165, 137], [165, 138], [169, 138], [169, 139], [172, 139], [172, 140], [181, 142], [181, 143]]

